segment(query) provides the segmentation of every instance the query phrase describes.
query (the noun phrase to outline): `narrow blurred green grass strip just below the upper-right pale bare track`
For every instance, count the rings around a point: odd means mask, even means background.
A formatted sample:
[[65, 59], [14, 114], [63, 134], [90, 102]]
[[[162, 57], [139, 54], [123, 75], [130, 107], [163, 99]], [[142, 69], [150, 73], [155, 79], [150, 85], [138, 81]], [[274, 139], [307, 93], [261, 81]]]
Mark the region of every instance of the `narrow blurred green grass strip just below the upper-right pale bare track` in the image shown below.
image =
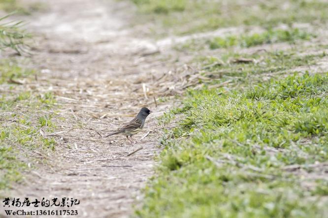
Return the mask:
[[267, 30], [262, 33], [254, 33], [250, 35], [227, 36], [225, 38], [215, 37], [209, 40], [207, 44], [210, 49], [229, 48], [232, 46], [252, 47], [263, 44], [271, 44], [278, 42], [295, 43], [296, 40], [309, 40], [315, 35], [306, 31], [294, 29], [275, 29]]

